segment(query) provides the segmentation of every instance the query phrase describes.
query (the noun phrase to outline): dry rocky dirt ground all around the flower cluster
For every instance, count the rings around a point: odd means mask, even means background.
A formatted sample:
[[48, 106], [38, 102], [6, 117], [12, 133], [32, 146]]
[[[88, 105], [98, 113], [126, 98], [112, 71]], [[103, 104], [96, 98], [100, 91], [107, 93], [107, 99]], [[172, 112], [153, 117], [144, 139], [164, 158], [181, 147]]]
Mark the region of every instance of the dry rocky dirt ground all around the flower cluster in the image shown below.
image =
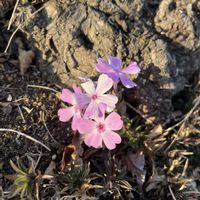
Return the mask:
[[[141, 67], [112, 152], [57, 117], [109, 55]], [[199, 199], [199, 70], [198, 0], [0, 0], [0, 199]]]

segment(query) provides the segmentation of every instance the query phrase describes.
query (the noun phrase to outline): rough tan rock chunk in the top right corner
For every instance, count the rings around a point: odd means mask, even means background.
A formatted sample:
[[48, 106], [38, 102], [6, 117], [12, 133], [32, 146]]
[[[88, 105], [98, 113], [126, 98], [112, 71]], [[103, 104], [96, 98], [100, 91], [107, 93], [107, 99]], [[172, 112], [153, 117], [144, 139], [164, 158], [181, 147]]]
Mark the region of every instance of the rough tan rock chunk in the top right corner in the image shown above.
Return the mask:
[[198, 0], [163, 0], [155, 17], [155, 28], [183, 47], [200, 47], [200, 17], [194, 8]]

